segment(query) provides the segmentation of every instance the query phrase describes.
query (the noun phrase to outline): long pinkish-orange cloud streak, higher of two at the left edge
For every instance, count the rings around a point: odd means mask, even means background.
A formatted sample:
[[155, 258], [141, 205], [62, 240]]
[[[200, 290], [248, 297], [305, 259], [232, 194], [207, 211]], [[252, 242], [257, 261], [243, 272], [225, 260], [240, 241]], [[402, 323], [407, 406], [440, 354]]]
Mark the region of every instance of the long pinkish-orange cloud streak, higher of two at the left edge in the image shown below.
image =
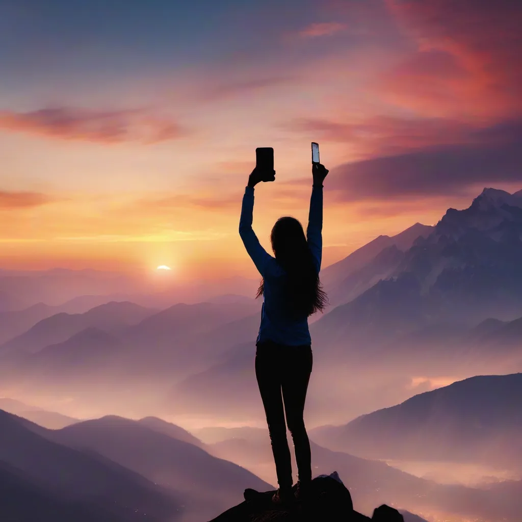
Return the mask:
[[96, 111], [55, 107], [29, 112], [0, 111], [0, 128], [56, 139], [114, 144], [158, 143], [179, 138], [181, 127], [170, 118], [142, 109]]

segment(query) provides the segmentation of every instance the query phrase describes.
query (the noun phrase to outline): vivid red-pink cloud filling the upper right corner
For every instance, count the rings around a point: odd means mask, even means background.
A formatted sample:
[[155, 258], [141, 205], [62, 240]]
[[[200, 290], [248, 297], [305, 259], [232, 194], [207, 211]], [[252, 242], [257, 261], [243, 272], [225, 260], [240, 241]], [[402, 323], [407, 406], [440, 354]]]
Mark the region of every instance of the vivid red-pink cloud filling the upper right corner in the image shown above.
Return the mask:
[[522, 114], [522, 4], [513, 0], [387, 0], [417, 51], [378, 88], [425, 115], [469, 118]]

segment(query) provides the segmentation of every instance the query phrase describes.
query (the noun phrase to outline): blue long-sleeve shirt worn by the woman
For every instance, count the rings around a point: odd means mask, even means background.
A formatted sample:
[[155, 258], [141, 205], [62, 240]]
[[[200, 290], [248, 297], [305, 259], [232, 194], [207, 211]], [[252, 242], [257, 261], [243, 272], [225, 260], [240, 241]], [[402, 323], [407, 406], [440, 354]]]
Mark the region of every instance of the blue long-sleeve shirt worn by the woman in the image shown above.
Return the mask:
[[[282, 296], [285, 272], [275, 257], [272, 257], [261, 246], [252, 229], [254, 211], [254, 188], [246, 187], [241, 208], [239, 234], [248, 255], [252, 258], [259, 274], [265, 281], [265, 300], [261, 309], [261, 323], [256, 342], [271, 340], [282, 345], [310, 345], [308, 317], [291, 319], [284, 313]], [[310, 213], [306, 238], [312, 252], [317, 273], [321, 270], [323, 250], [323, 187], [313, 186], [310, 198]]]

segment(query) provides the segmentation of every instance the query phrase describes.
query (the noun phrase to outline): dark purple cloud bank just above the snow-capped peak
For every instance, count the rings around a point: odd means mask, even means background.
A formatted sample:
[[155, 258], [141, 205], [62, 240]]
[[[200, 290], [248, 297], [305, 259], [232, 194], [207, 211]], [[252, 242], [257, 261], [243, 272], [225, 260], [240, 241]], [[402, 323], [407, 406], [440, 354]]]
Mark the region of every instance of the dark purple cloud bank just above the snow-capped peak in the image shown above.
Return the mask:
[[477, 185], [522, 184], [522, 123], [475, 133], [476, 143], [425, 147], [337, 167], [343, 200], [466, 194]]

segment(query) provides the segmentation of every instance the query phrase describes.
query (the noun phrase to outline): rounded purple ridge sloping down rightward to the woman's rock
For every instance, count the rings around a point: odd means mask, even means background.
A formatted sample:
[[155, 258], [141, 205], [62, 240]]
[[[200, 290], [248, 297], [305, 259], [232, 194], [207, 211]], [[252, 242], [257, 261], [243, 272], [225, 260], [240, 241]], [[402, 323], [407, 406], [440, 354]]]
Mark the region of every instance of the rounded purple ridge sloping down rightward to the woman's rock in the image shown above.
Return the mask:
[[182, 492], [188, 499], [187, 511], [194, 516], [197, 510], [199, 519], [215, 516], [237, 501], [245, 488], [270, 488], [250, 471], [150, 429], [143, 422], [103, 417], [48, 436], [71, 447], [89, 448], [165, 488]]

